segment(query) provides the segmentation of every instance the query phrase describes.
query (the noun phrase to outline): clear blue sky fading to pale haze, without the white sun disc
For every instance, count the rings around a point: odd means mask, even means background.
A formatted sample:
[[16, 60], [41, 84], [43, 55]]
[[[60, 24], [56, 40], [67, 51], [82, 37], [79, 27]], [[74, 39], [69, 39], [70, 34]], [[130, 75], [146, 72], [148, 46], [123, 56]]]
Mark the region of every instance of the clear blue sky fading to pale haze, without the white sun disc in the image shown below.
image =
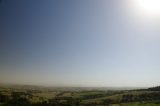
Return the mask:
[[1, 0], [0, 83], [160, 85], [160, 14], [133, 0]]

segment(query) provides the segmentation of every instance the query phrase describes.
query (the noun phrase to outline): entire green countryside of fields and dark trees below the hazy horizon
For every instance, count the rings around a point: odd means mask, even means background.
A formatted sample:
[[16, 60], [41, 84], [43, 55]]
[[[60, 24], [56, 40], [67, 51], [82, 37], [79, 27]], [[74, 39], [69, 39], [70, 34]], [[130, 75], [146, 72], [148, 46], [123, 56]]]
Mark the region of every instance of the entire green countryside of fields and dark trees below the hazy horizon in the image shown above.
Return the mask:
[[160, 106], [160, 87], [114, 91], [1, 87], [0, 106]]

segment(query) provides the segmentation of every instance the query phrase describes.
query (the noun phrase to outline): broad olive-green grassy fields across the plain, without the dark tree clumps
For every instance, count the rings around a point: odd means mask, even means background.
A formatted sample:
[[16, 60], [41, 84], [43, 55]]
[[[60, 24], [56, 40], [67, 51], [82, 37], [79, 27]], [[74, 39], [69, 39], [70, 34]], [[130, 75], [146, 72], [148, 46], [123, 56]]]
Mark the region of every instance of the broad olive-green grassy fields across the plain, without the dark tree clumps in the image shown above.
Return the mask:
[[[38, 88], [38, 89], [12, 89], [12, 88], [0, 88], [0, 93], [7, 96], [12, 96], [12, 92], [25, 92], [30, 93], [32, 97], [27, 97], [30, 102], [38, 103], [43, 101], [49, 101], [50, 99], [55, 99], [57, 97], [60, 98], [59, 102], [65, 103], [67, 100], [66, 97], [72, 97], [74, 99], [80, 99], [81, 104], [103, 104], [105, 100], [112, 100], [110, 106], [160, 106], [159, 101], [141, 101], [141, 102], [125, 102], [121, 103], [121, 105], [116, 104], [121, 101], [124, 95], [132, 95], [134, 97], [141, 94], [152, 94], [152, 93], [160, 93], [159, 91], [147, 91], [147, 90], [123, 90], [123, 91], [100, 91], [100, 90], [79, 90], [79, 91], [65, 91], [65, 90], [54, 90], [46, 88]], [[115, 103], [115, 104], [114, 104]], [[2, 105], [2, 103], [0, 104]]]

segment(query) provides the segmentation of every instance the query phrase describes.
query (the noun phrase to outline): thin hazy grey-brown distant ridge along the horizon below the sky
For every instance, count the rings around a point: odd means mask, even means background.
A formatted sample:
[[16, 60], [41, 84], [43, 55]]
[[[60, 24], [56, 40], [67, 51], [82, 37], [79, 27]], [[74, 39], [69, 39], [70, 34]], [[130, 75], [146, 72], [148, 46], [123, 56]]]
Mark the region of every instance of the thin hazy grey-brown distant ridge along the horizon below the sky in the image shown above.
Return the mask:
[[[142, 89], [141, 87], [70, 87], [70, 86], [42, 86], [42, 85], [26, 85], [26, 84], [8, 84], [8, 83], [0, 83], [1, 88], [12, 88], [12, 89], [31, 89], [31, 90], [61, 90], [61, 91], [108, 91], [108, 90], [137, 90]], [[146, 89], [146, 88], [144, 88]]]

